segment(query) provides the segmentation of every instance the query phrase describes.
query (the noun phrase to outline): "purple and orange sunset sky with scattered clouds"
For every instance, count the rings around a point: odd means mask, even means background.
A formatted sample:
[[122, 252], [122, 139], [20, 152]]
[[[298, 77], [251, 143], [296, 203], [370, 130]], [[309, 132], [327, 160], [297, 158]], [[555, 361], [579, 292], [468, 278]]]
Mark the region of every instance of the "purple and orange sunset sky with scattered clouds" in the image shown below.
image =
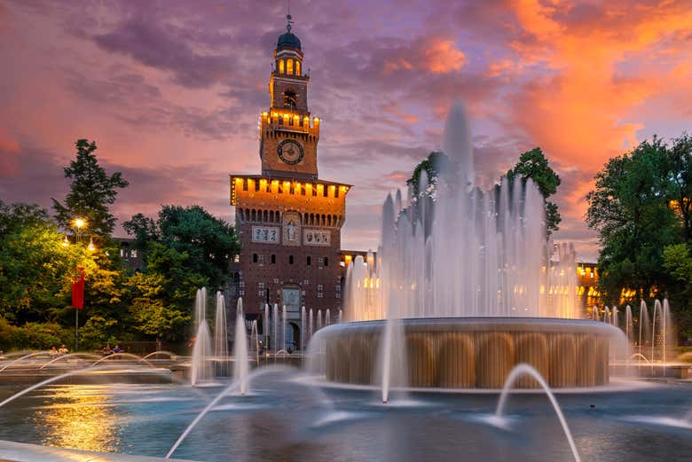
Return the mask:
[[[468, 106], [477, 182], [540, 146], [562, 230], [597, 243], [586, 192], [609, 157], [692, 129], [692, 1], [293, 0], [319, 176], [353, 184], [342, 247], [377, 247], [381, 203]], [[286, 1], [0, 0], [0, 199], [62, 199], [75, 139], [130, 181], [122, 221], [200, 204], [260, 171], [257, 116]], [[124, 235], [122, 229], [118, 233]]]

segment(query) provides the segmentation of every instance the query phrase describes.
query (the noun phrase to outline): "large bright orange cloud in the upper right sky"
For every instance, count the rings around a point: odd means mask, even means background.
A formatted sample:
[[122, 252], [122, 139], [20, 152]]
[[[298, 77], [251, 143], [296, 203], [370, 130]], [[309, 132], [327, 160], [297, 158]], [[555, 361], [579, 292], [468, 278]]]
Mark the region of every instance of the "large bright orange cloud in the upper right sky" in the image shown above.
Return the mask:
[[[680, 72], [637, 67], [649, 64], [665, 37], [692, 28], [692, 9], [681, 2], [609, 4], [584, 23], [570, 23], [564, 13], [572, 5], [565, 2], [519, 0], [513, 7], [526, 36], [512, 48], [523, 61], [547, 66], [546, 77], [515, 94], [513, 121], [563, 164], [587, 171], [635, 145], [644, 125], [629, 119], [631, 112]], [[670, 59], [689, 56], [688, 50]], [[621, 74], [624, 65], [636, 68], [636, 78]], [[689, 81], [685, 86], [692, 90]]]

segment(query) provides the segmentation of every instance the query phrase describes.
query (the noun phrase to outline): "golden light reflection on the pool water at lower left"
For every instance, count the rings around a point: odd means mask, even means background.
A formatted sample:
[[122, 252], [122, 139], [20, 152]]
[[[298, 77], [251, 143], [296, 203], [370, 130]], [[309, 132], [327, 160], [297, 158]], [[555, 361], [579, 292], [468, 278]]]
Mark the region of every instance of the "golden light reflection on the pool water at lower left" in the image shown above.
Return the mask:
[[110, 396], [92, 387], [56, 388], [33, 418], [41, 444], [76, 450], [118, 450], [120, 432]]

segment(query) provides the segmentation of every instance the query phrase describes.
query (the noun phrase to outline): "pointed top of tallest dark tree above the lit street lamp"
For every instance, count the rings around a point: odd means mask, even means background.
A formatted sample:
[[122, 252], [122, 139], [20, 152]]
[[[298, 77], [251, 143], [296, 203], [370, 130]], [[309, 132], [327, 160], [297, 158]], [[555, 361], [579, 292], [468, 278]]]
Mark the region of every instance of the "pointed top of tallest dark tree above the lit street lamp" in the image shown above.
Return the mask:
[[89, 231], [100, 236], [109, 236], [115, 226], [115, 217], [110, 206], [115, 202], [118, 189], [128, 182], [120, 172], [108, 176], [106, 170], [98, 165], [96, 142], [78, 139], [75, 143], [77, 155], [69, 167], [64, 168], [65, 176], [72, 180], [65, 204], [53, 199], [53, 209], [59, 225], [67, 230], [77, 217], [86, 218]]

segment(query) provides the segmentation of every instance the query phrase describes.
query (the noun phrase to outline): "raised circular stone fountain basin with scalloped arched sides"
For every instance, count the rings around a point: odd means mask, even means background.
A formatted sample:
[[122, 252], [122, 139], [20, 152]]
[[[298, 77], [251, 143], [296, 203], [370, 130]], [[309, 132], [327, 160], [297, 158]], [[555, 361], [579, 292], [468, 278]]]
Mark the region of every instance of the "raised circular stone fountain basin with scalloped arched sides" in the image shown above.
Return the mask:
[[[408, 385], [413, 388], [502, 388], [516, 364], [531, 364], [551, 388], [609, 382], [612, 325], [544, 317], [442, 317], [401, 320]], [[385, 321], [331, 325], [324, 341], [326, 380], [378, 383], [378, 352]], [[518, 388], [538, 388], [530, 377]]]

